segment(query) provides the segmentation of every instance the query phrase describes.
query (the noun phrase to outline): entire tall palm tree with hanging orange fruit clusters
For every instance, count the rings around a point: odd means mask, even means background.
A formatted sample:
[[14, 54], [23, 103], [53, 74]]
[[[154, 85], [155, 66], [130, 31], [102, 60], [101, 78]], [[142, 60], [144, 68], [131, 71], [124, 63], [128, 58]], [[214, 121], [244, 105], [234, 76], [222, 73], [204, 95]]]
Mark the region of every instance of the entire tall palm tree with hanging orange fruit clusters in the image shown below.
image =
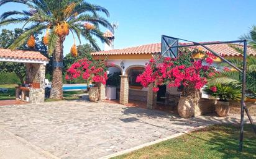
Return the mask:
[[[0, 27], [9, 24], [24, 24], [24, 27], [29, 25], [27, 30], [17, 37], [9, 48], [16, 49], [26, 41], [27, 45], [33, 47], [33, 35], [46, 31], [43, 42], [47, 44], [48, 54], [53, 56], [53, 80], [50, 98], [62, 98], [63, 41], [71, 32], [73, 37], [76, 35], [80, 43], [83, 37], [96, 50], [99, 50], [94, 37], [109, 42], [103, 37], [99, 25], [111, 30], [112, 27], [98, 13], [103, 12], [109, 17], [109, 12], [104, 7], [89, 4], [84, 0], [0, 0], [0, 6], [8, 2], [24, 4], [30, 9], [29, 11], [7, 11], [1, 15]], [[77, 55], [75, 37], [71, 53]]]

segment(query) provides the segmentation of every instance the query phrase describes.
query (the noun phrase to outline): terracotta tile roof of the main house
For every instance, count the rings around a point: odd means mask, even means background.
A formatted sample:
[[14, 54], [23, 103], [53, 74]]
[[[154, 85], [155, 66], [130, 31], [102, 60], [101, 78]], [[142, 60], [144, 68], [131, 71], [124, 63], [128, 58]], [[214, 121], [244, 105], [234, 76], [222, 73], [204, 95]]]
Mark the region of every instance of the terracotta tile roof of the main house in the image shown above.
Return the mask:
[[[180, 43], [180, 45], [188, 45], [190, 43]], [[207, 45], [209, 48], [213, 49], [216, 53], [221, 54], [221, 56], [241, 56], [241, 54], [232, 48], [228, 44], [214, 44], [214, 45]], [[242, 45], [235, 46], [242, 48]], [[207, 51], [201, 46], [193, 46], [191, 48], [199, 48], [203, 51]], [[124, 48], [124, 49], [112, 49], [109, 51], [98, 51], [95, 53], [91, 53], [91, 55], [117, 55], [117, 54], [154, 54], [161, 52], [161, 43], [153, 43], [149, 45], [141, 45], [135, 46], [131, 48]], [[256, 56], [256, 51], [250, 47], [247, 48], [247, 54]]]

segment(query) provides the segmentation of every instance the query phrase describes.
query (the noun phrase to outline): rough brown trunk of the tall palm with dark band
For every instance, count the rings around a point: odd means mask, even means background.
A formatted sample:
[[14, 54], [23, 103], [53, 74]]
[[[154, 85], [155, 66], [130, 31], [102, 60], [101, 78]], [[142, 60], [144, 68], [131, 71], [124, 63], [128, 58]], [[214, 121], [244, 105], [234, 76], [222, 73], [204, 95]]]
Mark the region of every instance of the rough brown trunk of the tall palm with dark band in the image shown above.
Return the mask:
[[50, 98], [62, 99], [62, 69], [63, 69], [63, 41], [65, 38], [58, 38], [53, 53], [53, 77]]

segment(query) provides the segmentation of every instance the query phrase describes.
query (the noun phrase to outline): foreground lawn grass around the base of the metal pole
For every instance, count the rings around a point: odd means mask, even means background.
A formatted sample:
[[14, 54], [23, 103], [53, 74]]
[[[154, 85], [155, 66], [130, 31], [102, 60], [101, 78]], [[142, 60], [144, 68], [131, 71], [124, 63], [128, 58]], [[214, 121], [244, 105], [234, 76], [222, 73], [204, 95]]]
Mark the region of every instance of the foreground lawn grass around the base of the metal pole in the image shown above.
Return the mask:
[[245, 124], [244, 150], [238, 151], [239, 126], [209, 126], [112, 159], [169, 158], [256, 158], [256, 135]]

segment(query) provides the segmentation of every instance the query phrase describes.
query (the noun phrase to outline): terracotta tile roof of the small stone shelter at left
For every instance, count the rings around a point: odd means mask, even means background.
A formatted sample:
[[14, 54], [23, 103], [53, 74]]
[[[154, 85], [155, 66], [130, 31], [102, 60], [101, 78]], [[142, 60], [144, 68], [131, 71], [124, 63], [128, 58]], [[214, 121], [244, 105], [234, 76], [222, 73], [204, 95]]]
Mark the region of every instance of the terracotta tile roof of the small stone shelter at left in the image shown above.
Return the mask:
[[36, 51], [24, 50], [11, 50], [0, 48], [0, 58], [13, 58], [13, 59], [35, 59], [48, 61], [48, 58]]

